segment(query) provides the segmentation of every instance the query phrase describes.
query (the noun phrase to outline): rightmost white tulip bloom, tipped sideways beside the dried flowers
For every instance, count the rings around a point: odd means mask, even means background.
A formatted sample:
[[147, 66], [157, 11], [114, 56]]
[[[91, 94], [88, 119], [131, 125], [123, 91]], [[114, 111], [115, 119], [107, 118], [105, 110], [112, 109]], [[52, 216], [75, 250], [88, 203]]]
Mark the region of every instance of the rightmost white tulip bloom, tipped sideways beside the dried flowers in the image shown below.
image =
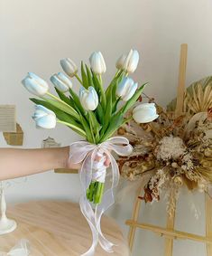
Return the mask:
[[137, 123], [149, 123], [158, 117], [154, 103], [141, 103], [133, 110], [133, 118]]

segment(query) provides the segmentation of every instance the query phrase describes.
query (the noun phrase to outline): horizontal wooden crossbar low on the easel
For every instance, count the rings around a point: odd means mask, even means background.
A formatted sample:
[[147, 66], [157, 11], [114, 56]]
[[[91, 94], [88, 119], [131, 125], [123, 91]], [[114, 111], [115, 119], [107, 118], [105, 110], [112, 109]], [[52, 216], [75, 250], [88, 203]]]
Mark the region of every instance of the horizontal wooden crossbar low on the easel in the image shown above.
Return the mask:
[[212, 238], [208, 238], [198, 234], [193, 234], [189, 232], [180, 232], [176, 230], [169, 230], [167, 228], [161, 228], [159, 226], [146, 224], [146, 223], [136, 223], [133, 220], [127, 220], [125, 224], [129, 226], [141, 228], [143, 230], [156, 232], [161, 235], [164, 235], [165, 237], [170, 237], [171, 239], [189, 239], [196, 242], [206, 242], [207, 244], [212, 246]]

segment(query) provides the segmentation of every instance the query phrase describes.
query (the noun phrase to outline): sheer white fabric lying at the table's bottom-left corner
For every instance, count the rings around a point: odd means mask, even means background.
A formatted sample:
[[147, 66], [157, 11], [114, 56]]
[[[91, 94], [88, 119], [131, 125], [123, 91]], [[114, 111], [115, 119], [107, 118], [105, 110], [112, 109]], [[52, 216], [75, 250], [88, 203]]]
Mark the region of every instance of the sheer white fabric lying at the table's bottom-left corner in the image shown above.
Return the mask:
[[0, 256], [29, 256], [30, 243], [29, 241], [20, 240], [9, 252], [0, 252]]

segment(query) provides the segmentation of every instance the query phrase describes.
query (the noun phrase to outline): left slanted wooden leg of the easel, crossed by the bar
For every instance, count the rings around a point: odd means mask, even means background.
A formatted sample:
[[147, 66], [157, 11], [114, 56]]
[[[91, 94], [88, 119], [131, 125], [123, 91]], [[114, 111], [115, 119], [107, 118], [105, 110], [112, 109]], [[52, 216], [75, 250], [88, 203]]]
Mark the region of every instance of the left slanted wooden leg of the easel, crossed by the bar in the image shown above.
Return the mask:
[[[134, 211], [133, 211], [133, 217], [132, 217], [132, 220], [134, 222], [137, 222], [140, 208], [141, 208], [141, 199], [138, 198], [138, 196], [141, 194], [141, 192], [142, 192], [142, 187], [139, 187], [138, 192], [135, 197], [135, 202], [134, 202]], [[133, 251], [135, 230], [136, 230], [136, 227], [131, 226], [129, 234], [128, 234], [128, 242], [129, 242], [130, 251]]]

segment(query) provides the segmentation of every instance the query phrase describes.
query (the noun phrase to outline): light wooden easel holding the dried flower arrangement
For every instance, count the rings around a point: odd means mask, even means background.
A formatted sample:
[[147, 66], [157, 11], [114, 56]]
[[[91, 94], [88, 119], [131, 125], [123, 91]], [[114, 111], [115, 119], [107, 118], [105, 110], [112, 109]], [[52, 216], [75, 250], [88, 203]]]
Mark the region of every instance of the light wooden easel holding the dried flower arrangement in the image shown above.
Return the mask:
[[[186, 81], [186, 64], [187, 64], [187, 52], [188, 52], [188, 45], [183, 43], [181, 44], [181, 51], [180, 51], [180, 73], [179, 73], [179, 85], [178, 85], [178, 92], [177, 92], [177, 105], [175, 109], [175, 115], [178, 117], [183, 112], [183, 100], [184, 100], [184, 91], [185, 91], [185, 81]], [[207, 256], [212, 256], [212, 200], [206, 194], [206, 236], [201, 236], [193, 233], [188, 232], [180, 232], [174, 229], [175, 223], [175, 212], [170, 215], [167, 215], [167, 224], [166, 228], [151, 225], [148, 223], [139, 223], [138, 216], [141, 209], [142, 201], [138, 198], [139, 195], [142, 193], [142, 187], [140, 187], [137, 191], [135, 202], [134, 202], [134, 209], [133, 209], [133, 216], [131, 220], [127, 220], [125, 223], [126, 225], [130, 226], [129, 234], [128, 234], [128, 241], [130, 250], [133, 250], [134, 246], [134, 236], [136, 228], [141, 228], [144, 230], [156, 232], [165, 237], [165, 250], [164, 256], [172, 256], [173, 251], [173, 240], [174, 239], [189, 239], [196, 242], [205, 242], [207, 245]], [[176, 205], [176, 202], [175, 202]]]

